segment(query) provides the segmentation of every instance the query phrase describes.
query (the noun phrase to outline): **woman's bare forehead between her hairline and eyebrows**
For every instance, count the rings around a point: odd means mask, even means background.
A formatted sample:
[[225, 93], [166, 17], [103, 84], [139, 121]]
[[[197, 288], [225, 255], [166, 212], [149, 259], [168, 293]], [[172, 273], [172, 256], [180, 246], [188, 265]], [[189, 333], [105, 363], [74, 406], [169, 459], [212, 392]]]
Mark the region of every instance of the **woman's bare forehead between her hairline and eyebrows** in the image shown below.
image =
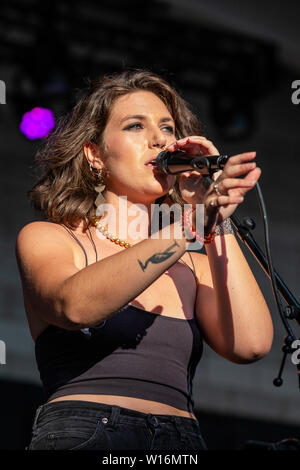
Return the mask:
[[128, 114], [158, 114], [171, 116], [163, 101], [150, 91], [136, 91], [117, 98], [113, 104], [111, 119], [122, 119]]

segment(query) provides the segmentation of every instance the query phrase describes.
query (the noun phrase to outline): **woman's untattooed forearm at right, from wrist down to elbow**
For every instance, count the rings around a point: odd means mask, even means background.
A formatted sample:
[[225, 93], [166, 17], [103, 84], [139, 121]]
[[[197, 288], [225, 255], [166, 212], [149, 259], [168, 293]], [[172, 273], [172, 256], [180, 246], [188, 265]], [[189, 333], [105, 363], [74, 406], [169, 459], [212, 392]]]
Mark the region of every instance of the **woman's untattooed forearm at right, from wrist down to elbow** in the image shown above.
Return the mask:
[[205, 248], [224, 344], [233, 358], [255, 360], [265, 355], [273, 340], [272, 319], [238, 241], [228, 233], [216, 236]]

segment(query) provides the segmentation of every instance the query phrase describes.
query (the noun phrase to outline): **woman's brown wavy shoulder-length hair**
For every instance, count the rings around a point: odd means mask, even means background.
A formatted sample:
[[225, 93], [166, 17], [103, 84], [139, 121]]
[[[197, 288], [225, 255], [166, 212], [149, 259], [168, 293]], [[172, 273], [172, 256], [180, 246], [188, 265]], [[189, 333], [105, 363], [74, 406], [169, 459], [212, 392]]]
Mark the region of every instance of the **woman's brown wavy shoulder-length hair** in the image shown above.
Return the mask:
[[[203, 135], [202, 125], [177, 91], [159, 75], [148, 70], [126, 70], [89, 81], [77, 104], [61, 117], [35, 155], [41, 175], [27, 192], [36, 211], [48, 220], [77, 228], [83, 220], [83, 231], [95, 215], [98, 193], [97, 173], [90, 170], [83, 147], [93, 142], [103, 148], [103, 132], [114, 101], [138, 90], [151, 91], [168, 108], [175, 122], [176, 139]], [[178, 188], [169, 196], [183, 204]], [[166, 196], [157, 199], [161, 203]]]

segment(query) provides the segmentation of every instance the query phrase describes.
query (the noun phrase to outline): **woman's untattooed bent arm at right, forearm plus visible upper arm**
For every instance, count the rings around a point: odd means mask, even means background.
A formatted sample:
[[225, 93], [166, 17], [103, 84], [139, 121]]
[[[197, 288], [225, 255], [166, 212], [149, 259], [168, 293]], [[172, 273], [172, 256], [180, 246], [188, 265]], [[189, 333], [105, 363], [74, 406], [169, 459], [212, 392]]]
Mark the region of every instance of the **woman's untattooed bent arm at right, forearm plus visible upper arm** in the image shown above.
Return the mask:
[[265, 356], [273, 324], [263, 294], [233, 234], [217, 236], [196, 256], [196, 314], [207, 344], [238, 364]]

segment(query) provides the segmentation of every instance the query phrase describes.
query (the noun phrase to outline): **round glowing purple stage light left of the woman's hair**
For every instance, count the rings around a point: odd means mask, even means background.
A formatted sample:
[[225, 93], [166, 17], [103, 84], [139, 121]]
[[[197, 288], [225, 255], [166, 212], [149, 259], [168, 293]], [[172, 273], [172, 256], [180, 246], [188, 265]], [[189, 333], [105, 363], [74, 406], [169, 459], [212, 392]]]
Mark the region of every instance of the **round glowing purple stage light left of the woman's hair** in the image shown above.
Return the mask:
[[47, 108], [33, 108], [23, 114], [20, 131], [30, 140], [46, 137], [55, 126], [54, 114]]

